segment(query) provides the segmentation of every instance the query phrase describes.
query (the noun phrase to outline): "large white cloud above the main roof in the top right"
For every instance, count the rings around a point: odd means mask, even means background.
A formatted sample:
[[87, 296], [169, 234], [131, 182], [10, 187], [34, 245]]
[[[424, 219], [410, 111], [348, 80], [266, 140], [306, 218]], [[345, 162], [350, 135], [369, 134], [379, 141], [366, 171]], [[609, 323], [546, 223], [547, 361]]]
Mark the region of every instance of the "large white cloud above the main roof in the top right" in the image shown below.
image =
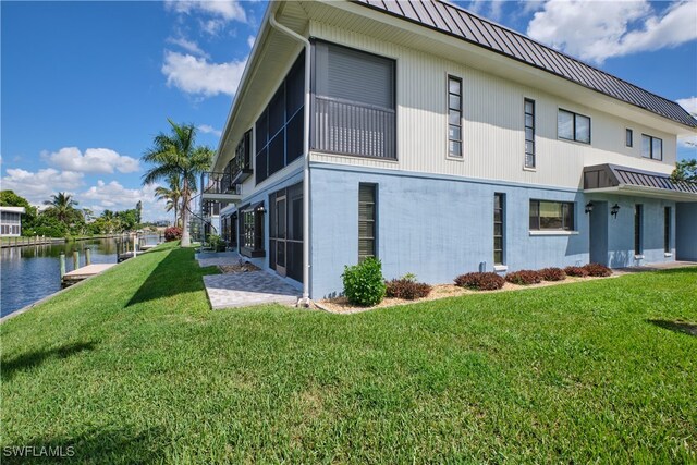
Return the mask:
[[657, 15], [647, 0], [548, 0], [527, 34], [583, 60], [675, 47], [697, 38], [695, 2], [676, 1]]

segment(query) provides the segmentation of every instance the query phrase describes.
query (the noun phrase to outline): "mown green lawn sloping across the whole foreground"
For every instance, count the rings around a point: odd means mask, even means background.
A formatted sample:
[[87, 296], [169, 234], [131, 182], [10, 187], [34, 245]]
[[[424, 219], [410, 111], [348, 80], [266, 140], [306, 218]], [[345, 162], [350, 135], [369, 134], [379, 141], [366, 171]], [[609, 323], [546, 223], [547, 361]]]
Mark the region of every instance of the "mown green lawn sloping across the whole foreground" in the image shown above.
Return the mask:
[[2, 445], [88, 464], [697, 462], [697, 268], [354, 316], [211, 311], [211, 272], [166, 245], [3, 323]]

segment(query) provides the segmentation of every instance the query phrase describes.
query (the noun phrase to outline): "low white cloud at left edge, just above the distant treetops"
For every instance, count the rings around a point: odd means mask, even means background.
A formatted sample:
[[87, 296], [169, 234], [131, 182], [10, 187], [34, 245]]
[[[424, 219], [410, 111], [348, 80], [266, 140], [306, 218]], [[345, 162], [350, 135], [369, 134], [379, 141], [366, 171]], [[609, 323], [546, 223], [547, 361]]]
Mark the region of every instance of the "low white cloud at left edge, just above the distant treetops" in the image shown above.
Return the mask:
[[14, 191], [29, 204], [41, 205], [58, 192], [74, 193], [83, 185], [83, 173], [58, 171], [53, 168], [46, 168], [35, 173], [9, 168], [1, 184], [3, 189]]

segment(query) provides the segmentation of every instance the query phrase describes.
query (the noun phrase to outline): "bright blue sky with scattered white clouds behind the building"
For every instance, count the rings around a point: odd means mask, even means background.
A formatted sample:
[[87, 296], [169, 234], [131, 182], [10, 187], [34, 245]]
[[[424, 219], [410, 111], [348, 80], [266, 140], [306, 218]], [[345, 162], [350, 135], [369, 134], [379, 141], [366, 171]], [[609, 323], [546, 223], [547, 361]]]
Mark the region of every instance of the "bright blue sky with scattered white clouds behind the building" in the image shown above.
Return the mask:
[[[456, 1], [697, 113], [697, 1]], [[0, 2], [0, 188], [40, 205], [144, 204], [139, 159], [168, 118], [218, 146], [264, 1]], [[678, 159], [697, 158], [697, 137]]]

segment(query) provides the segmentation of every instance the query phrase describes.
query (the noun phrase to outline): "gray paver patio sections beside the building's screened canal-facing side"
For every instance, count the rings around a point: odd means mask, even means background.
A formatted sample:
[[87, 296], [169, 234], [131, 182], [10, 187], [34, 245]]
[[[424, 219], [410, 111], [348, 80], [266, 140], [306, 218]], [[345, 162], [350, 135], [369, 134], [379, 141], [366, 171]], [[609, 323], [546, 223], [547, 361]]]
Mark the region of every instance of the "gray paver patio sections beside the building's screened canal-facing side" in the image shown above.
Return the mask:
[[[243, 258], [236, 253], [196, 254], [201, 267], [236, 265]], [[208, 301], [213, 310], [252, 305], [294, 305], [302, 292], [267, 271], [246, 271], [204, 277]]]

